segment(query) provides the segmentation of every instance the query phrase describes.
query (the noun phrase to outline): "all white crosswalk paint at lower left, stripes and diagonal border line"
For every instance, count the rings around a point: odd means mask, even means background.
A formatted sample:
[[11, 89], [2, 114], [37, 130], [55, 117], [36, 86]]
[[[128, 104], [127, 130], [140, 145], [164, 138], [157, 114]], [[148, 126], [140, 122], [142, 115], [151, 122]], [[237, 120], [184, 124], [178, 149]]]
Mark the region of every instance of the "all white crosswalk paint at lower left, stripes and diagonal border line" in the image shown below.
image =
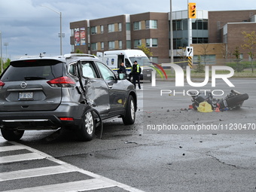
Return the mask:
[[[1, 136], [0, 136], [0, 144], [7, 143]], [[21, 145], [17, 142], [8, 142], [8, 146], [0, 147], [0, 153], [10, 153], [19, 150], [23, 150], [22, 154], [8, 154], [3, 157], [0, 157], [0, 165], [5, 166], [5, 163], [17, 163], [22, 161], [29, 161], [29, 160], [49, 160], [53, 163], [56, 163], [55, 166], [43, 166], [39, 168], [32, 168], [32, 169], [20, 169], [11, 172], [0, 172], [0, 184], [4, 184], [5, 181], [11, 181], [16, 179], [23, 178], [35, 178], [45, 175], [56, 175], [56, 174], [68, 174], [69, 172], [80, 172], [84, 175], [89, 176], [88, 179], [82, 181], [72, 181], [72, 182], [63, 182], [57, 184], [46, 184], [36, 187], [26, 187], [26, 188], [15, 188], [14, 182], [14, 189], [13, 190], [5, 190], [4, 192], [62, 192], [63, 189], [67, 192], [72, 191], [86, 191], [86, 190], [100, 190], [104, 188], [110, 187], [120, 187], [123, 190], [131, 191], [131, 192], [143, 192], [142, 190], [136, 189], [134, 187], [130, 187], [129, 185], [122, 184], [120, 182], [111, 180], [109, 178], [105, 178], [101, 175], [97, 175], [93, 172], [88, 172], [84, 169], [80, 169], [77, 166], [72, 166], [69, 163], [63, 162], [61, 160], [57, 160], [54, 157], [51, 157], [48, 154], [44, 154], [41, 151], [37, 151], [34, 148], [29, 148], [26, 145]], [[24, 150], [28, 151], [28, 153], [24, 154]], [[17, 152], [16, 152], [17, 153]], [[3, 186], [3, 185], [2, 185]], [[111, 191], [111, 188], [110, 188]]]

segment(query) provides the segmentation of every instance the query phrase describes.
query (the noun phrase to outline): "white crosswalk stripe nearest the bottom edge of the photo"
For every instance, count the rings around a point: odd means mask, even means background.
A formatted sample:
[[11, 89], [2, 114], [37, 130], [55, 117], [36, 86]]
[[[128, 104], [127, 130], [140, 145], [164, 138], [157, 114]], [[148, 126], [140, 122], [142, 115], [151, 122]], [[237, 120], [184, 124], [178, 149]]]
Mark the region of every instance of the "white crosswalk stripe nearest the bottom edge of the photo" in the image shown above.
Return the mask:
[[74, 191], [83, 191], [83, 190], [96, 190], [107, 187], [116, 187], [113, 184], [102, 181], [99, 178], [87, 179], [84, 181], [73, 181], [62, 184], [49, 184], [39, 187], [29, 187], [17, 190], [5, 190], [2, 192], [74, 192]]

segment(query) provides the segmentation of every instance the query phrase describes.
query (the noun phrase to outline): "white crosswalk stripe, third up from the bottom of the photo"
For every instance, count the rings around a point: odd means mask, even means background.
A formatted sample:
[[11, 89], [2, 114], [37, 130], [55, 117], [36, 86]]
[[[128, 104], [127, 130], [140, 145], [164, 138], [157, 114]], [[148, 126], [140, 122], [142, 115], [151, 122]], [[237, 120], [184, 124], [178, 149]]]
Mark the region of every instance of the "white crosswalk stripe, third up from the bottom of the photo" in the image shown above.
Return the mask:
[[41, 154], [37, 154], [37, 153], [16, 154], [16, 155], [0, 157], [0, 163], [13, 163], [13, 162], [23, 161], [23, 160], [40, 160], [40, 159], [44, 159], [44, 157], [41, 156]]

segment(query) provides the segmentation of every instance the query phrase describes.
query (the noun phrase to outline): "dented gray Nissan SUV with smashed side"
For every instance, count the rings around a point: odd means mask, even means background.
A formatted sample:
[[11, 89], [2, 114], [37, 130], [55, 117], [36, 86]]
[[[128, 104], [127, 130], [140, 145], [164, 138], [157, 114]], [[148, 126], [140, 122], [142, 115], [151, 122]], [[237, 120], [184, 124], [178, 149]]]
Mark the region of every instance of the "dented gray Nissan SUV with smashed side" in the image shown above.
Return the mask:
[[25, 130], [73, 129], [81, 141], [114, 117], [136, 119], [133, 84], [96, 56], [26, 56], [11, 61], [0, 76], [0, 126], [6, 140]]

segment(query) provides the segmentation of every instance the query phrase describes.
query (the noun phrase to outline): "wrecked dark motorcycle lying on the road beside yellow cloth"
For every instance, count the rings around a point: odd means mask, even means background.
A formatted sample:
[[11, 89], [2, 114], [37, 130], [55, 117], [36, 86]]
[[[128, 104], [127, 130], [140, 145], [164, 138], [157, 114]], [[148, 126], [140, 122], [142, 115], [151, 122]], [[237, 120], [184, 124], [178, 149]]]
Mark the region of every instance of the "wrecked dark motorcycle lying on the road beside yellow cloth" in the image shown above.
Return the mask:
[[247, 93], [239, 93], [236, 90], [231, 90], [230, 93], [224, 99], [214, 99], [211, 92], [203, 93], [192, 93], [192, 106], [194, 110], [200, 105], [200, 102], [208, 102], [212, 109], [219, 108], [220, 111], [227, 111], [233, 108], [239, 108], [242, 106], [243, 102], [249, 98]]

